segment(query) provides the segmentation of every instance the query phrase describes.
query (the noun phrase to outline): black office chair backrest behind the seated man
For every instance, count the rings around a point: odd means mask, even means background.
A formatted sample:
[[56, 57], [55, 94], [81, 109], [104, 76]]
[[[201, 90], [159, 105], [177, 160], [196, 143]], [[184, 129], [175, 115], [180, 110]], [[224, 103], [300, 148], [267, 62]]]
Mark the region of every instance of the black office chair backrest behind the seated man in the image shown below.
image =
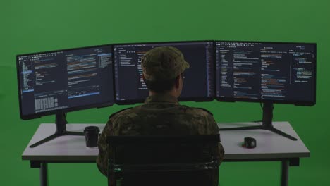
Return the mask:
[[110, 136], [108, 185], [216, 186], [219, 135]]

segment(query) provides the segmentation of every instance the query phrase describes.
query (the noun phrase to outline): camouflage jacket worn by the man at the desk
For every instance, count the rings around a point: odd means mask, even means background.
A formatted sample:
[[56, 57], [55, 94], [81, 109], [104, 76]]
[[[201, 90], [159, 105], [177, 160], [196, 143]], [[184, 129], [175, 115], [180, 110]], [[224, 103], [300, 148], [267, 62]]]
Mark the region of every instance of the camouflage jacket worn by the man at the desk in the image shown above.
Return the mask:
[[[219, 130], [212, 113], [183, 106], [176, 97], [157, 94], [147, 97], [145, 104], [114, 113], [99, 137], [97, 166], [107, 176], [108, 135], [213, 135]], [[219, 143], [219, 164], [224, 148]]]

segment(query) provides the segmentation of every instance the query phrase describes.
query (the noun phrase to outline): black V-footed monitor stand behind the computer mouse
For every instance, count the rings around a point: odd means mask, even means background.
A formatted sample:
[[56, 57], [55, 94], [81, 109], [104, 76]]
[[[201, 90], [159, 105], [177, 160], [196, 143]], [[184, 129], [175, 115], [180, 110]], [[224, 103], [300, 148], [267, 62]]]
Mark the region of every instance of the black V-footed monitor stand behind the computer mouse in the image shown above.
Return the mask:
[[273, 109], [274, 109], [274, 104], [264, 103], [264, 106], [262, 107], [262, 125], [260, 125], [260, 126], [239, 127], [239, 128], [220, 128], [219, 130], [256, 130], [256, 129], [263, 129], [263, 130], [270, 130], [271, 132], [274, 132], [274, 133], [276, 133], [278, 135], [281, 135], [283, 137], [288, 137], [288, 139], [291, 139], [291, 140], [297, 140], [297, 138], [292, 137], [291, 135], [288, 135], [285, 132], [282, 132], [281, 130], [278, 130], [278, 129], [274, 128], [273, 124], [271, 123], [271, 120], [273, 120]]

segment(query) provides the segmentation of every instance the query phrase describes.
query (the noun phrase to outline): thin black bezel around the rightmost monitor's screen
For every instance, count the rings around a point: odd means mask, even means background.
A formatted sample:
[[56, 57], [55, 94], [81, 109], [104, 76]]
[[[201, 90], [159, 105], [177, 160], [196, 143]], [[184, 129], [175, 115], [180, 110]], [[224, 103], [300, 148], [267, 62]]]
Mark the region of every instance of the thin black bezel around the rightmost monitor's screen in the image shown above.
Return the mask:
[[[215, 94], [215, 99], [217, 101], [223, 102], [255, 102], [255, 103], [271, 103], [271, 104], [294, 104], [296, 106], [314, 106], [316, 104], [316, 84], [317, 84], [317, 43], [311, 42], [259, 42], [259, 41], [228, 41], [228, 40], [214, 40], [214, 64], [216, 65], [216, 43], [217, 42], [245, 42], [245, 43], [270, 43], [270, 44], [311, 44], [314, 45], [315, 49], [315, 63], [314, 63], [314, 97], [313, 101], [293, 101], [293, 100], [271, 100], [271, 99], [248, 99], [248, 98], [229, 98], [229, 97], [218, 97]], [[216, 68], [214, 69], [214, 75], [216, 78]], [[217, 83], [217, 82], [216, 82]], [[214, 87], [215, 91], [216, 85]]]

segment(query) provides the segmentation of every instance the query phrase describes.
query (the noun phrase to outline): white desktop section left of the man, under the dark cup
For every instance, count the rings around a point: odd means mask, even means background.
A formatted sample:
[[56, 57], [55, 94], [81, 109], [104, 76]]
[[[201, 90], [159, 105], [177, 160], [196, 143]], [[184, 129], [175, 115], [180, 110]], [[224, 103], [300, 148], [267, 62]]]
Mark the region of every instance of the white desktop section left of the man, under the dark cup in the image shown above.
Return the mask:
[[[97, 126], [103, 130], [104, 124], [69, 124], [66, 130], [83, 132], [87, 126]], [[54, 123], [42, 123], [33, 135], [31, 141], [23, 152], [22, 159], [44, 162], [95, 162], [99, 149], [97, 147], [86, 147], [85, 136], [61, 136], [54, 140], [30, 148], [31, 144], [54, 134], [56, 127]]]

